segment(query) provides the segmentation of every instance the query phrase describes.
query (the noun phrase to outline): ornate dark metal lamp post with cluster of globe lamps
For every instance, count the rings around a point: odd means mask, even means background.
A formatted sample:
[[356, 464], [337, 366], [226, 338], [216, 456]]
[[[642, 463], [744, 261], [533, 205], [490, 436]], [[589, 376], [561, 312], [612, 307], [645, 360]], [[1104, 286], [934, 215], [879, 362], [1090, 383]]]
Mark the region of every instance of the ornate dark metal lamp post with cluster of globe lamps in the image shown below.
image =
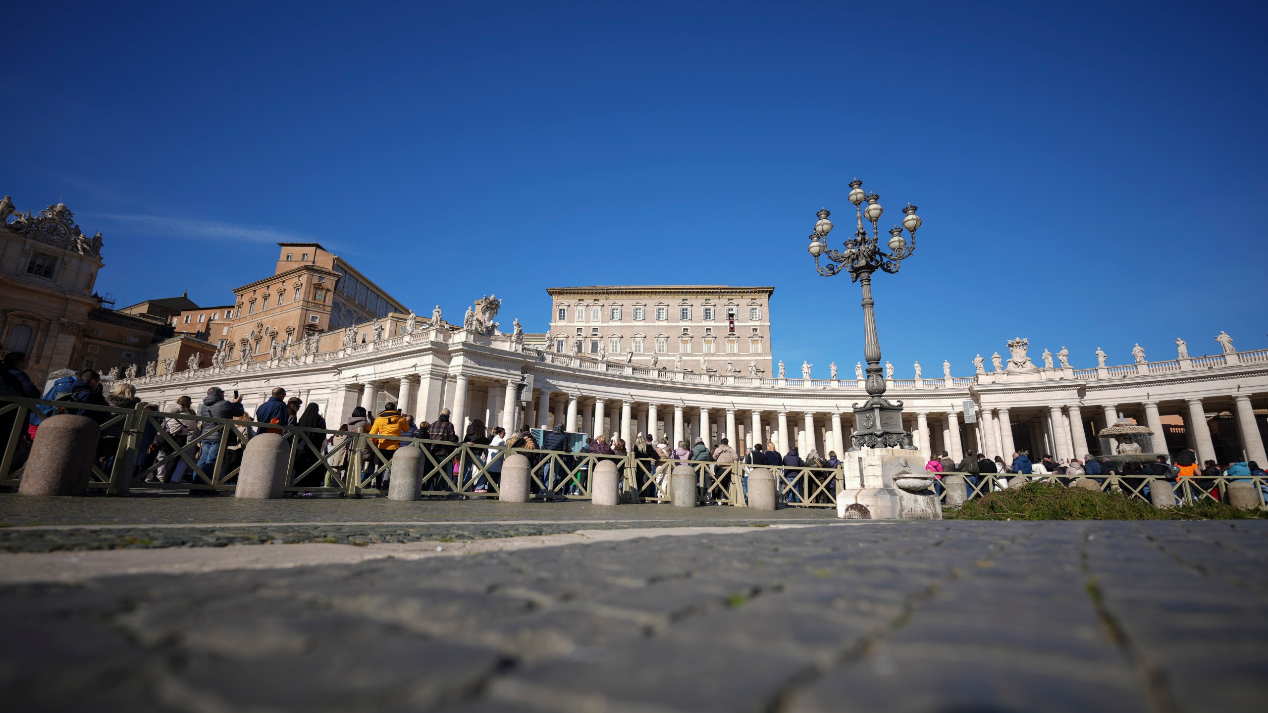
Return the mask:
[[[896, 273], [899, 264], [915, 252], [915, 230], [921, 227], [921, 217], [915, 214], [915, 206], [910, 203], [903, 208], [903, 227], [894, 226], [889, 231], [889, 252], [879, 246], [880, 236], [876, 222], [885, 212], [880, 206], [880, 195], [864, 193], [864, 181], [855, 179], [850, 181], [850, 202], [855, 204], [858, 218], [858, 228], [855, 236], [846, 241], [844, 251], [827, 247], [825, 239], [832, 231], [832, 221], [828, 219], [831, 212], [820, 209], [819, 222], [814, 225], [810, 233], [810, 255], [814, 256], [814, 268], [823, 277], [832, 277], [841, 271], [850, 273], [853, 282], [858, 282], [864, 291], [864, 359], [867, 360], [867, 393], [871, 396], [861, 406], [855, 403], [856, 430], [853, 435], [853, 449], [858, 448], [914, 448], [912, 434], [903, 430], [903, 402], [890, 402], [884, 398], [885, 378], [880, 367], [880, 341], [876, 339], [876, 316], [872, 312], [875, 301], [871, 297], [871, 275], [876, 270]], [[864, 203], [867, 207], [864, 208]], [[864, 227], [864, 218], [871, 222], [871, 237]], [[910, 242], [903, 237], [903, 230], [912, 236]], [[819, 265], [819, 255], [824, 255], [828, 265]]]

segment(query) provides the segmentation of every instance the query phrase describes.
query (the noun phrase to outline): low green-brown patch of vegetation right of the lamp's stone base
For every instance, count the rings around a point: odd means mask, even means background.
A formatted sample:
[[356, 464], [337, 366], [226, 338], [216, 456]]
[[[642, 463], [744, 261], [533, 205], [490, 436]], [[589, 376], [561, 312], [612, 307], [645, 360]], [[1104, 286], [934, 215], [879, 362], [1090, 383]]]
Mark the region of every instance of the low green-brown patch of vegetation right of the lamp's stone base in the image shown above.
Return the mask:
[[1263, 519], [1265, 514], [1211, 500], [1159, 510], [1120, 492], [1032, 482], [970, 500], [959, 510], [943, 510], [942, 516], [947, 520], [1246, 520]]

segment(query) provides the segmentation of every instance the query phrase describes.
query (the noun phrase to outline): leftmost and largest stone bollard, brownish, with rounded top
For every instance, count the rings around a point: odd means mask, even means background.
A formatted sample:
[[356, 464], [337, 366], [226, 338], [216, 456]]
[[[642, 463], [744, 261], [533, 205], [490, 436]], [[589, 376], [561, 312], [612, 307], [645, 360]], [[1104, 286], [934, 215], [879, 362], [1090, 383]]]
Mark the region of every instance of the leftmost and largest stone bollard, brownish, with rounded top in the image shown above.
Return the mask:
[[44, 419], [36, 431], [18, 494], [85, 495], [100, 438], [100, 426], [87, 416], [63, 414]]

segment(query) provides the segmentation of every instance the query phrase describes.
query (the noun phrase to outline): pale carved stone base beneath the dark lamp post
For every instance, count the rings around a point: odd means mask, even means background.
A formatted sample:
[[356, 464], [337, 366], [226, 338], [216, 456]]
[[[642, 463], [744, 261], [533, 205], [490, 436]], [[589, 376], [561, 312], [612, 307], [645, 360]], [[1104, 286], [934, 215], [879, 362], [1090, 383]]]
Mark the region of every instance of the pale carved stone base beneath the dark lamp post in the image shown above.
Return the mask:
[[941, 520], [921, 453], [907, 448], [860, 448], [846, 453], [837, 516], [865, 520]]

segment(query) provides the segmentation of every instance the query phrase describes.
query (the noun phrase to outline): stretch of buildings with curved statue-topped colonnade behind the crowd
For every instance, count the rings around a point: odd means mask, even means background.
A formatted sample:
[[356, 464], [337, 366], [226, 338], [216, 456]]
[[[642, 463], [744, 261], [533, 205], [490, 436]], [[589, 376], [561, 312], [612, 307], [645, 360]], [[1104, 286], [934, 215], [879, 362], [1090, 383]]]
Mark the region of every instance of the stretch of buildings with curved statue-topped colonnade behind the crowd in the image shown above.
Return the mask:
[[[444, 318], [439, 307], [415, 315], [320, 245], [284, 244], [274, 274], [236, 289], [232, 304], [199, 308], [167, 298], [119, 311], [99, 304], [96, 317], [85, 316], [86, 307], [42, 315], [51, 291], [87, 299], [103, 264], [100, 233], [84, 239], [75, 226], [68, 240], [42, 237], [39, 218], [24, 221], [19, 228], [6, 216], [0, 230], [6, 349], [18, 341], [51, 349], [41, 354], [63, 360], [46, 363], [49, 372], [105, 372], [107, 364], [85, 362], [93, 331], [103, 331], [94, 324], [148, 324], [137, 360], [109, 376], [129, 378], [139, 397], [165, 407], [219, 386], [240, 391], [251, 412], [280, 386], [317, 402], [332, 429], [358, 405], [377, 410], [391, 401], [427, 421], [448, 407], [459, 428], [476, 417], [507, 428], [563, 422], [626, 442], [640, 433], [710, 444], [728, 438], [742, 449], [761, 439], [780, 450], [796, 444], [803, 454], [842, 454], [852, 405], [867, 397], [855, 365], [841, 373], [833, 365], [824, 379], [772, 363], [771, 287], [549, 288], [549, 331], [525, 334], [519, 320], [495, 321], [501, 301], [493, 296], [462, 320]], [[93, 277], [58, 271], [80, 270], [85, 259]], [[19, 301], [32, 289], [46, 298]], [[61, 335], [79, 330], [77, 346], [37, 341], [49, 329], [42, 325]], [[1268, 349], [1239, 351], [1224, 332], [1215, 341], [1211, 356], [1189, 356], [1177, 340], [1173, 359], [1146, 360], [1137, 348], [1131, 364], [1074, 368], [1064, 349], [1035, 355], [1027, 340], [1014, 339], [1007, 356], [979, 356], [965, 376], [954, 376], [950, 363], [914, 379], [889, 369], [886, 397], [903, 402], [904, 422], [926, 454], [1099, 454], [1096, 434], [1121, 415], [1164, 434], [1172, 453], [1191, 447], [1202, 459], [1268, 463]]]

